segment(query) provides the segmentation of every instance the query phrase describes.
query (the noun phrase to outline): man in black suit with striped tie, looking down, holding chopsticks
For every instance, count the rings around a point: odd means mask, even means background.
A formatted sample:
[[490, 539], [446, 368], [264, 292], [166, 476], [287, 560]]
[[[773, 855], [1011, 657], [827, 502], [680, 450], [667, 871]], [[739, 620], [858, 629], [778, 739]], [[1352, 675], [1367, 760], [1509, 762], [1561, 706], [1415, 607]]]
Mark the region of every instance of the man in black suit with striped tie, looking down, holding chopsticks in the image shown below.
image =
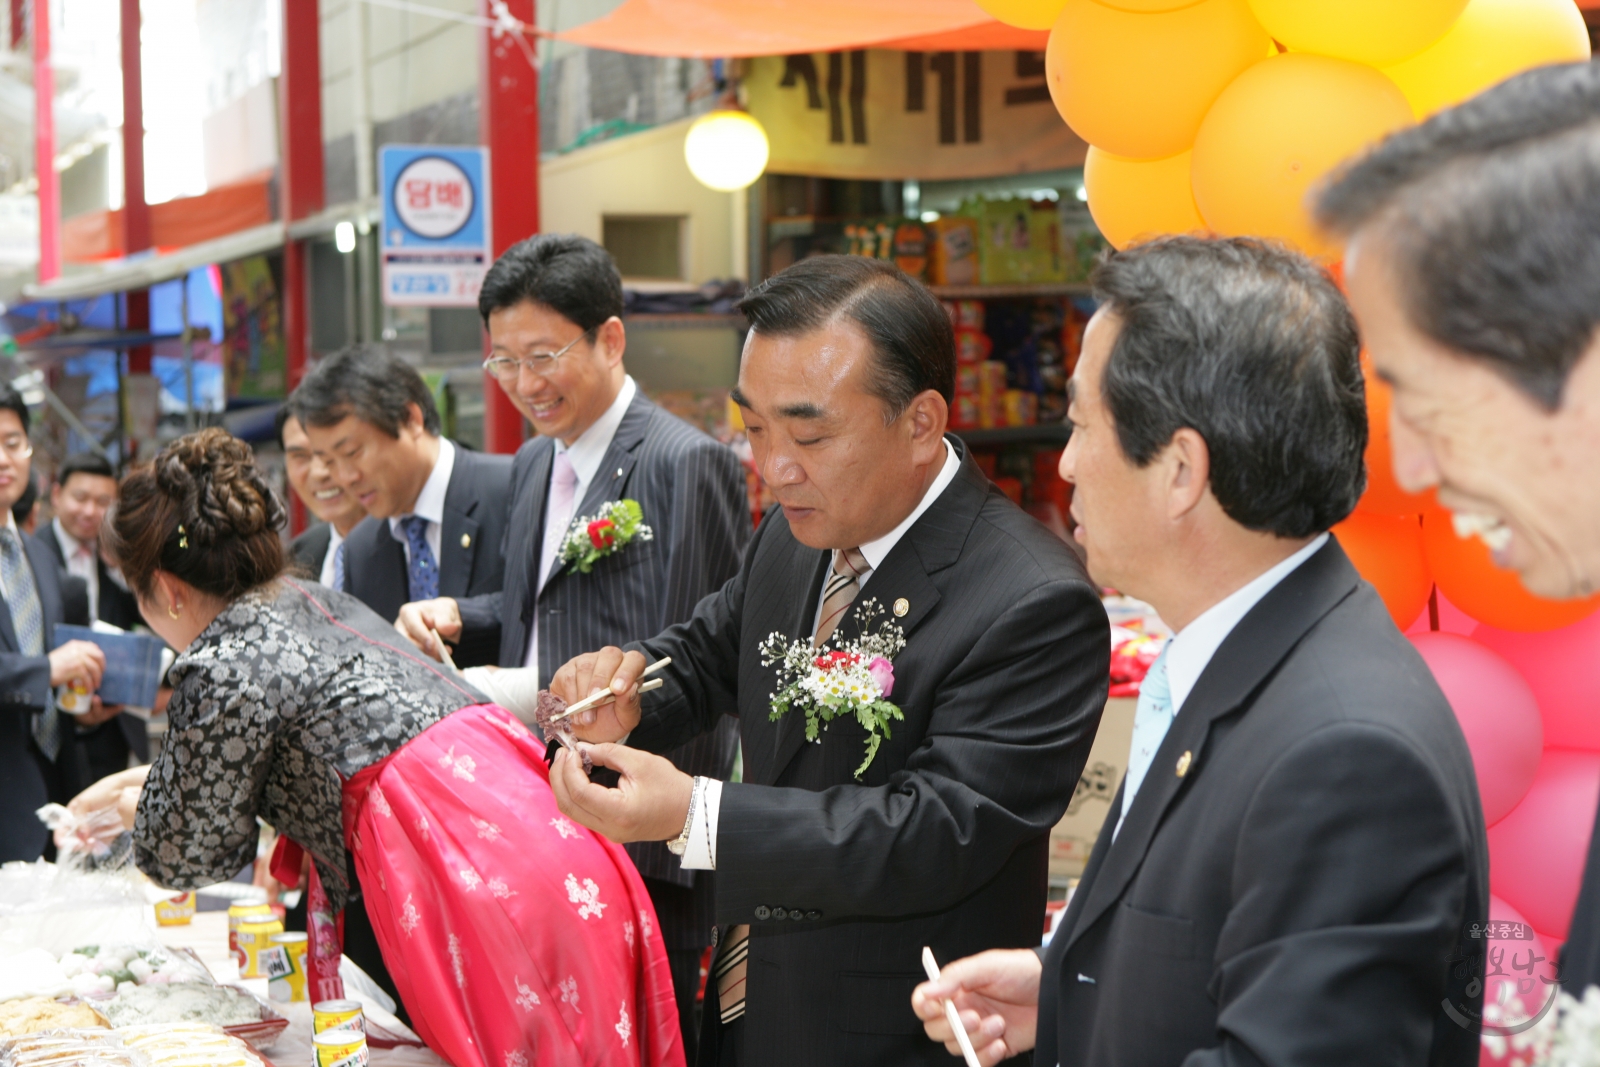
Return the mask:
[[[621, 789], [566, 752], [552, 787], [606, 837], [669, 840], [717, 870], [726, 931], [699, 1062], [936, 1064], [909, 1003], [922, 949], [1038, 944], [1048, 833], [1106, 701], [1106, 611], [1072, 550], [946, 437], [955, 346], [923, 286], [822, 256], [742, 309], [734, 398], [782, 507], [690, 621], [562, 667], [552, 689], [568, 701], [621, 694], [579, 736], [627, 747], [590, 749]], [[802, 709], [774, 721], [782, 680], [763, 643], [810, 665], [866, 633], [904, 640], [893, 681], [880, 664], [872, 683], [899, 717], [875, 750], [848, 713], [814, 744]], [[642, 707], [640, 673], [666, 656]], [[725, 713], [739, 715], [742, 782], [648, 755]]]

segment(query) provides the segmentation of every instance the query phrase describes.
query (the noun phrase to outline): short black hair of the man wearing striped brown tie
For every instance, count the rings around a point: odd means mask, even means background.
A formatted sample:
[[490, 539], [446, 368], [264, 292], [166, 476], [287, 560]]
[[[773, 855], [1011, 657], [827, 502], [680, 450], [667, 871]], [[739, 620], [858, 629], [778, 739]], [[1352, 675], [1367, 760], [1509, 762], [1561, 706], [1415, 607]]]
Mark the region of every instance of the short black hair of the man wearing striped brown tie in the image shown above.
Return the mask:
[[955, 331], [920, 282], [883, 259], [813, 256], [750, 290], [738, 304], [755, 333], [792, 338], [848, 318], [877, 357], [869, 384], [898, 419], [928, 389], [955, 395]]

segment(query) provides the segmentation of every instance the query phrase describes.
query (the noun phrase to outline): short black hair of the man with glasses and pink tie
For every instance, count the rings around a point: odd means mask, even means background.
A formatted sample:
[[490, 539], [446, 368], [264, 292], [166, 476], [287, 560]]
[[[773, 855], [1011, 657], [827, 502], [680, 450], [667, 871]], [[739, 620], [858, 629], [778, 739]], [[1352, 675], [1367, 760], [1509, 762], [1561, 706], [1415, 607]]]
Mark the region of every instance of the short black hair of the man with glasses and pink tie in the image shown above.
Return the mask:
[[576, 234], [534, 234], [517, 242], [483, 275], [478, 315], [523, 301], [544, 304], [582, 331], [622, 315], [622, 275], [611, 253]]

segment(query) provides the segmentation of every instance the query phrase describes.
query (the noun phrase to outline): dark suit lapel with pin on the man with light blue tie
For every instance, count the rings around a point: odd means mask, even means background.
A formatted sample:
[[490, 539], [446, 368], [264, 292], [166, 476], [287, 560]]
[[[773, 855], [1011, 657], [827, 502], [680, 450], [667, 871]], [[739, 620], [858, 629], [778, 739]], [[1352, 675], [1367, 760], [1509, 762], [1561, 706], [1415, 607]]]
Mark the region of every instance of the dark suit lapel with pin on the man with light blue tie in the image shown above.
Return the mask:
[[[1133, 881], [1144, 856], [1162, 825], [1166, 809], [1184, 789], [1205, 773], [1205, 744], [1211, 725], [1246, 704], [1256, 689], [1277, 670], [1302, 637], [1341, 600], [1355, 592], [1360, 576], [1350, 566], [1344, 549], [1333, 537], [1309, 560], [1278, 582], [1227, 635], [1211, 662], [1200, 673], [1171, 729], [1150, 760], [1122, 832], [1106, 853], [1099, 877], [1080, 888], [1086, 893], [1083, 910], [1070, 931], [1070, 944], [1088, 931]], [[1184, 774], [1178, 774], [1179, 760]], [[1107, 827], [1115, 827], [1122, 811], [1122, 789]]]

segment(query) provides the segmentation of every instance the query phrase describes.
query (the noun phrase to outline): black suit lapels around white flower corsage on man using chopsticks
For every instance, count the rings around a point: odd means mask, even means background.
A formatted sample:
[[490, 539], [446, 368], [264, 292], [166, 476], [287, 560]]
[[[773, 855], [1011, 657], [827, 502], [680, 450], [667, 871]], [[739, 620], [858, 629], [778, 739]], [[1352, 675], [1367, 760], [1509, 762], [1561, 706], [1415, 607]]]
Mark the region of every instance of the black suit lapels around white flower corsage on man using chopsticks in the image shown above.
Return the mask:
[[[899, 627], [909, 641], [917, 624], [928, 616], [939, 603], [939, 587], [931, 574], [955, 563], [966, 544], [966, 534], [978, 518], [978, 510], [984, 504], [989, 491], [989, 480], [963, 448], [957, 445], [957, 454], [963, 458], [962, 467], [955, 472], [955, 480], [946, 486], [928, 510], [912, 523], [912, 528], [890, 549], [883, 563], [867, 576], [867, 584], [861, 587], [856, 601], [840, 619], [834, 643], [853, 641], [866, 630], [877, 630], [885, 621]], [[810, 637], [816, 616], [816, 600], [822, 592], [822, 581], [827, 574], [832, 553], [824, 552], [808, 589], [810, 595], [802, 605], [802, 622], [797, 635]], [[862, 608], [867, 601], [875, 601], [875, 614], [866, 621]], [[901, 614], [904, 601], [904, 614]], [[864, 625], [866, 622], [866, 625]], [[805, 715], [790, 712], [779, 720], [778, 747], [773, 757], [771, 777], [776, 781], [789, 761], [800, 752], [805, 742]]]

